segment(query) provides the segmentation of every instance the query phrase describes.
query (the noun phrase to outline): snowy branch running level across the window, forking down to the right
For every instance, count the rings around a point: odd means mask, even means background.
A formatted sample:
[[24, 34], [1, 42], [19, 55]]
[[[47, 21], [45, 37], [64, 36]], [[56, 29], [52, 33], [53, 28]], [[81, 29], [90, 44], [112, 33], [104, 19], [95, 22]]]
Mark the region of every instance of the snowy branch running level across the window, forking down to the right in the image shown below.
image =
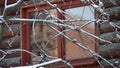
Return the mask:
[[42, 19], [20, 19], [20, 18], [13, 18], [13, 19], [10, 19], [10, 20], [14, 20], [14, 21], [24, 21], [24, 22], [34, 22], [34, 21], [36, 21], [36, 22], [46, 22], [46, 23], [49, 23], [49, 24], [53, 24], [53, 25], [56, 25], [56, 26], [60, 26], [60, 27], [65, 27], [65, 28], [67, 28], [67, 29], [74, 29], [74, 30], [78, 30], [79, 32], [82, 32], [82, 33], [84, 33], [84, 34], [86, 34], [86, 35], [89, 35], [89, 36], [91, 36], [91, 37], [93, 37], [93, 38], [96, 38], [96, 39], [98, 39], [98, 40], [100, 40], [100, 41], [103, 41], [103, 42], [106, 42], [106, 43], [112, 43], [112, 42], [110, 42], [110, 41], [107, 41], [107, 40], [104, 40], [104, 39], [102, 39], [102, 38], [100, 38], [100, 37], [98, 37], [98, 36], [95, 36], [95, 35], [93, 35], [93, 34], [91, 34], [91, 33], [89, 33], [89, 32], [86, 32], [85, 30], [83, 30], [83, 29], [80, 29], [79, 28], [79, 26], [69, 26], [69, 25], [66, 25], [66, 24], [61, 24], [61, 23], [56, 23], [56, 22], [76, 22], [76, 21], [80, 21], [79, 19], [78, 20], [42, 20]]

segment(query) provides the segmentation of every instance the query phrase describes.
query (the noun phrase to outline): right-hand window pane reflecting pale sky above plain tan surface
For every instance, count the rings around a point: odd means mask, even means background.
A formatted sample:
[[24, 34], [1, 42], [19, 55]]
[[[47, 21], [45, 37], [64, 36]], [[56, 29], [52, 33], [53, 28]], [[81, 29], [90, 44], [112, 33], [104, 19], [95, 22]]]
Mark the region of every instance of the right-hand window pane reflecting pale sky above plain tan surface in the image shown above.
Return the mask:
[[[84, 6], [84, 7], [76, 7], [76, 8], [70, 8], [66, 9], [65, 12], [69, 14], [66, 15], [66, 20], [75, 20], [79, 19], [78, 22], [67, 22], [70, 26], [83, 26], [85, 23], [89, 22], [90, 20], [94, 20], [94, 10], [90, 6]], [[89, 33], [94, 34], [94, 23], [88, 24], [87, 26], [80, 28], [83, 29]], [[76, 39], [78, 43], [81, 43], [84, 46], [88, 46], [90, 49], [95, 50], [95, 39], [91, 38], [79, 31], [75, 30], [69, 30], [65, 32], [65, 34], [72, 38]], [[65, 41], [65, 48], [66, 48], [66, 59], [81, 59], [81, 58], [88, 58], [91, 57], [89, 52], [85, 51], [84, 49], [80, 48], [76, 44], [72, 43], [71, 41], [66, 40]]]

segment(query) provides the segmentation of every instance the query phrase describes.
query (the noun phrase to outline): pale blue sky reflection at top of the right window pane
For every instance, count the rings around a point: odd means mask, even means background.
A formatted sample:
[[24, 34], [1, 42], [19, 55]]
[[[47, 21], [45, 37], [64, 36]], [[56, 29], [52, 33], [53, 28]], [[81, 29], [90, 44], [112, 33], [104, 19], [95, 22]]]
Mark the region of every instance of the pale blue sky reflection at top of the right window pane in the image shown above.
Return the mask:
[[82, 20], [94, 20], [94, 9], [91, 6], [66, 9], [65, 12]]

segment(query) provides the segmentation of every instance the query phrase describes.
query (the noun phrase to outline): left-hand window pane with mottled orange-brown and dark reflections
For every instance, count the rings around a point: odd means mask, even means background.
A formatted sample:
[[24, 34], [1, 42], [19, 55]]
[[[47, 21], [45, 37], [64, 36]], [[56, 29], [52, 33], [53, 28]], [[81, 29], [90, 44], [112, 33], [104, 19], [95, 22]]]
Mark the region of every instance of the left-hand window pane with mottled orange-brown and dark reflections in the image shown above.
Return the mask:
[[[55, 16], [56, 10], [52, 9], [34, 12], [30, 14], [30, 18], [44, 20], [51, 19], [48, 18], [49, 13]], [[57, 39], [55, 38], [50, 40], [54, 35], [56, 35], [56, 32], [44, 22], [35, 22], [34, 24], [31, 24], [31, 27], [31, 51], [34, 54], [43, 57], [41, 61], [37, 61], [36, 58], [31, 57], [32, 64], [49, 61], [50, 59], [45, 57], [45, 53], [50, 56], [57, 57]], [[53, 27], [56, 28], [56, 26]]]

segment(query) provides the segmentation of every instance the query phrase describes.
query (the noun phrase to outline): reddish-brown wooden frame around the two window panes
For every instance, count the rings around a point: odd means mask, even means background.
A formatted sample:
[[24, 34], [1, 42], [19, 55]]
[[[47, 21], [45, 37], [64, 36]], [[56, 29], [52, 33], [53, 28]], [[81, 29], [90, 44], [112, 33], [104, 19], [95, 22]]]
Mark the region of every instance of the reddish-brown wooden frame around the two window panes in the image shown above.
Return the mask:
[[[73, 1], [73, 3], [71, 4], [70, 1]], [[62, 1], [56, 1], [53, 2], [53, 4], [57, 4], [57, 6], [62, 9], [65, 10], [67, 8], [74, 8], [74, 7], [80, 7], [80, 6], [86, 6], [88, 4], [83, 4], [80, 2], [80, 0], [65, 0], [66, 5], [63, 5]], [[79, 2], [78, 2], [79, 1]], [[72, 5], [70, 7], [70, 5]], [[36, 6], [38, 7], [38, 10], [42, 10], [42, 9], [52, 9], [50, 6], [48, 6], [47, 4], [36, 4]], [[27, 6], [22, 6], [20, 9], [20, 15], [21, 18], [29, 18], [29, 13], [31, 12], [35, 12], [35, 7], [34, 4], [32, 5], [27, 5]], [[96, 16], [96, 14], [95, 14]], [[63, 19], [62, 15], [58, 13], [58, 17]], [[30, 24], [29, 23], [21, 23], [22, 25], [22, 29], [21, 29], [21, 48], [25, 49], [25, 50], [30, 50]], [[63, 28], [58, 27], [58, 30], [62, 31]], [[95, 24], [95, 34], [97, 35], [97, 24]], [[58, 42], [58, 57], [59, 58], [64, 58], [64, 46], [65, 46], [65, 39], [62, 36], [59, 36], [57, 38]], [[97, 40], [96, 40], [97, 42]], [[98, 48], [95, 44], [95, 51], [97, 52]], [[90, 58], [85, 58], [85, 59], [76, 59], [76, 60], [71, 60], [72, 65], [77, 66], [77, 65], [83, 65], [83, 64], [92, 64], [95, 59], [94, 57], [90, 57]], [[21, 53], [21, 65], [28, 65], [30, 63], [30, 55], [27, 53], [22, 52]]]

